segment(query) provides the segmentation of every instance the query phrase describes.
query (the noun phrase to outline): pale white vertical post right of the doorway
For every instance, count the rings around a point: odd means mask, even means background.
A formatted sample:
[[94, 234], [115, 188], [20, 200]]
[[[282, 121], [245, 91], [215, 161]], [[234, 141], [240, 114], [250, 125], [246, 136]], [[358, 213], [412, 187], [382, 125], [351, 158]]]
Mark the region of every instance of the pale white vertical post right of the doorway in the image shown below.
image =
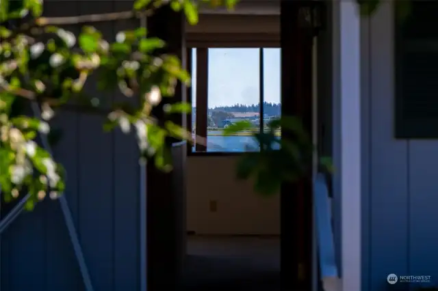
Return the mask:
[[[342, 290], [361, 289], [361, 22], [355, 1], [335, 1], [333, 195]], [[339, 238], [340, 235], [340, 238]]]

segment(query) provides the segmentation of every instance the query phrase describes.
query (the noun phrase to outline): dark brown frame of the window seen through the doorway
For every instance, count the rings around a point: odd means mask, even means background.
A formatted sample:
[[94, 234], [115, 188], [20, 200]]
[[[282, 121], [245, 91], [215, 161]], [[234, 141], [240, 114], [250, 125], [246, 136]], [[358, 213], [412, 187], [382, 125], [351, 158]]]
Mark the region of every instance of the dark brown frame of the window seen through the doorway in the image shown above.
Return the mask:
[[[196, 48], [196, 56], [192, 55], [192, 48]], [[186, 54], [188, 60], [188, 71], [192, 74], [192, 58], [196, 57], [196, 128], [198, 120], [202, 128], [207, 130], [208, 111], [208, 49], [209, 48], [259, 48], [259, 102], [264, 102], [264, 72], [263, 72], [263, 48], [281, 49], [279, 33], [188, 33], [186, 36]], [[201, 57], [199, 50], [201, 49]], [[202, 76], [201, 81], [199, 77]], [[187, 100], [192, 105], [192, 88], [188, 87]], [[280, 101], [281, 102], [281, 101]], [[201, 120], [198, 117], [198, 105], [201, 104]], [[204, 112], [205, 111], [205, 112]], [[263, 106], [259, 114], [263, 114]], [[263, 120], [263, 119], [262, 119]], [[187, 129], [192, 133], [192, 113], [188, 115]], [[260, 122], [260, 130], [263, 130], [263, 122]], [[201, 133], [202, 134], [202, 133]], [[203, 135], [201, 135], [203, 136]], [[207, 133], [205, 133], [207, 138]], [[195, 145], [196, 150], [205, 151], [192, 152], [192, 146], [188, 146], [188, 156], [241, 156], [246, 152], [207, 152], [205, 146]]]

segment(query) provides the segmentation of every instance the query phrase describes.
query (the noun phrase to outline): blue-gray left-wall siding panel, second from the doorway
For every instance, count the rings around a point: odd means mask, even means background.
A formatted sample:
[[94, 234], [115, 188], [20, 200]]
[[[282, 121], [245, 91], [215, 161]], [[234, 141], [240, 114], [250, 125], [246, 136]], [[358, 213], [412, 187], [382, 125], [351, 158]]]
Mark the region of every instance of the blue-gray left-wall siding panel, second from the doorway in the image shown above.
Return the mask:
[[[110, 1], [79, 1], [81, 14], [112, 12]], [[96, 23], [105, 38], [112, 36], [111, 23]], [[96, 89], [96, 79], [86, 85], [89, 96], [101, 104], [112, 101], [111, 94]], [[105, 116], [82, 113], [79, 116], [79, 230], [83, 255], [94, 290], [113, 290], [113, 143], [114, 134], [103, 132]]]

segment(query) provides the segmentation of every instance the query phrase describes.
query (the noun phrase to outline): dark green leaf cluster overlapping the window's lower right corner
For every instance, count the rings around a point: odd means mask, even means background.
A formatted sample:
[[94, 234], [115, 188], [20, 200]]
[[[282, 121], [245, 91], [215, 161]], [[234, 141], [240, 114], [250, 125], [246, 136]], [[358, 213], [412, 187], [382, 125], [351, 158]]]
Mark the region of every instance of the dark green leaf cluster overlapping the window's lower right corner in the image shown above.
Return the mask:
[[[224, 129], [225, 135], [235, 135], [250, 130], [248, 121], [236, 122]], [[287, 137], [279, 139], [276, 132], [282, 130]], [[255, 191], [262, 195], [279, 193], [283, 182], [297, 182], [311, 178], [315, 147], [300, 118], [283, 116], [268, 123], [268, 130], [257, 132], [253, 137], [259, 144], [259, 152], [244, 152], [237, 161], [237, 178], [255, 180]], [[331, 158], [322, 157], [320, 170], [333, 172]]]

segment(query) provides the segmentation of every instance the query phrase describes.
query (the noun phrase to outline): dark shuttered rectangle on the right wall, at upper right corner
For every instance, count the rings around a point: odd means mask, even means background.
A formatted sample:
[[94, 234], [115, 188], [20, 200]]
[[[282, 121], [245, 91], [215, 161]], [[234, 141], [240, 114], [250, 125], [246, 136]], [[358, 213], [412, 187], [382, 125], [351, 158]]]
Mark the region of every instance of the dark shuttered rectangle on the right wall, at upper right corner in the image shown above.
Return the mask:
[[438, 138], [437, 8], [437, 1], [413, 1], [408, 18], [396, 23], [398, 138]]

